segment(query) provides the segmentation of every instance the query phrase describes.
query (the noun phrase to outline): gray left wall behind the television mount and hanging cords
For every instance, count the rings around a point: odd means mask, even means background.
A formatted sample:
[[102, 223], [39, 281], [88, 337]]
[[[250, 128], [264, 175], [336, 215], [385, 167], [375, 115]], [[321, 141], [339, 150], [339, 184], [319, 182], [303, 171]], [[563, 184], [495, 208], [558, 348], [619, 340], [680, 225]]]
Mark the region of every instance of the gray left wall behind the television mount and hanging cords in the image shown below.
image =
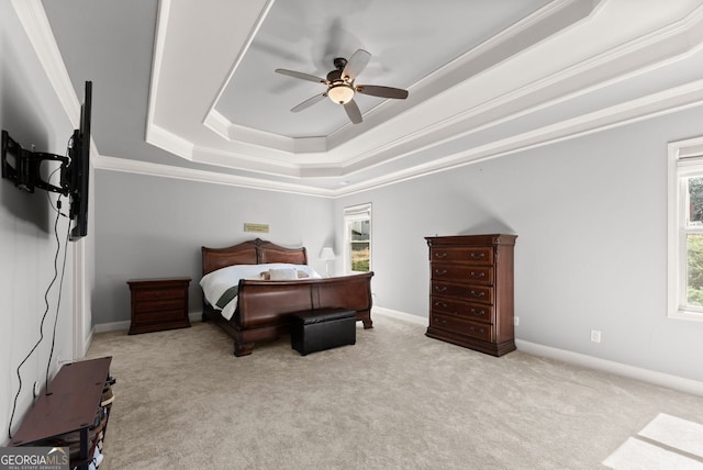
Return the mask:
[[[72, 131], [9, 1], [0, 2], [0, 127], [25, 148], [34, 144], [37, 152], [62, 155]], [[55, 212], [49, 208], [45, 191], [37, 190], [30, 194], [18, 190], [9, 180], [0, 180], [2, 429], [8, 429], [12, 403], [18, 393], [18, 367], [41, 338], [42, 317], [47, 311], [44, 294], [54, 277], [54, 220]], [[65, 219], [59, 222], [58, 231], [62, 246], [65, 246]], [[13, 433], [32, 404], [34, 382], [43, 388], [47, 366], [51, 366], [51, 378], [57, 370], [58, 358], [72, 358], [71, 259], [72, 246], [69, 245], [53, 361], [49, 365], [58, 280], [47, 296], [49, 309], [43, 328], [44, 339], [20, 369], [23, 387], [12, 422]], [[0, 443], [7, 443], [7, 435], [0, 438]]]

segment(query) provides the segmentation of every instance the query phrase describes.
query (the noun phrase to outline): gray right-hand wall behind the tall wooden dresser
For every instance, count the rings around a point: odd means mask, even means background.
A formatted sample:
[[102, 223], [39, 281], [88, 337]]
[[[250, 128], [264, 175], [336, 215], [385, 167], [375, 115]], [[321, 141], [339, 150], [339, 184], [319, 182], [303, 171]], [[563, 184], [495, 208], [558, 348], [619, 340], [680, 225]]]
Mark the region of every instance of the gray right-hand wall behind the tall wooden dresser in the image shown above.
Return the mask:
[[701, 134], [698, 108], [342, 198], [337, 246], [371, 202], [376, 304], [426, 317], [425, 236], [515, 233], [517, 338], [703, 380], [703, 323], [666, 303], [667, 143]]

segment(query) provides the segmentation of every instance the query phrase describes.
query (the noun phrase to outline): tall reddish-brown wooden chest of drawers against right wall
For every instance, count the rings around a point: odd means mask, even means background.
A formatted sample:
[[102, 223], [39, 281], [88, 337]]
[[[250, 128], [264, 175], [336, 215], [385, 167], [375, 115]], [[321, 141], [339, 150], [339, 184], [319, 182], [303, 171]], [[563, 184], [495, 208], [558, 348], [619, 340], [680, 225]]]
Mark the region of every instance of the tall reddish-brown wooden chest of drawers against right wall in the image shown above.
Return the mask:
[[515, 238], [505, 234], [425, 238], [431, 270], [427, 336], [493, 356], [515, 349]]

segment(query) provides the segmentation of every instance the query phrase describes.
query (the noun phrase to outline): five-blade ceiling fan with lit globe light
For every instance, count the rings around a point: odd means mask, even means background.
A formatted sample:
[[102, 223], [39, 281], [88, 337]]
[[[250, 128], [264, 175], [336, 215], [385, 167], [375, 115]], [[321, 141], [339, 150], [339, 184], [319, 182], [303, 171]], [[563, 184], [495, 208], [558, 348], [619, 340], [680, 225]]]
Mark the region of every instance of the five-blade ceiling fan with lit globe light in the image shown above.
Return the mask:
[[293, 78], [300, 78], [301, 80], [315, 81], [317, 83], [325, 83], [327, 90], [322, 94], [315, 94], [312, 98], [303, 101], [293, 109], [292, 112], [297, 113], [302, 111], [324, 98], [330, 98], [333, 102], [342, 104], [346, 111], [349, 120], [354, 124], [361, 122], [361, 111], [354, 101], [355, 93], [369, 94], [371, 97], [392, 98], [397, 100], [404, 100], [408, 98], [408, 91], [400, 88], [380, 87], [377, 85], [355, 85], [357, 75], [369, 63], [371, 54], [364, 49], [355, 52], [349, 60], [337, 57], [334, 59], [335, 69], [327, 74], [327, 78], [315, 77], [314, 75], [303, 74], [301, 71], [287, 70], [284, 68], [277, 68], [276, 72], [287, 75]]

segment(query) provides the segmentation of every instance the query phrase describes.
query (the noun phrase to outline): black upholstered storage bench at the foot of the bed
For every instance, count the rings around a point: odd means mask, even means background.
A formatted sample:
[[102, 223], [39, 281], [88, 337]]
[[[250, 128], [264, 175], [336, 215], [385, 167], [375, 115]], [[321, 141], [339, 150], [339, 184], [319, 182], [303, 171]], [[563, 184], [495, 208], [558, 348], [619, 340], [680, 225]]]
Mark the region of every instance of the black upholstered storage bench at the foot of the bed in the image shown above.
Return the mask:
[[303, 356], [356, 343], [356, 312], [316, 309], [291, 315], [291, 347]]

